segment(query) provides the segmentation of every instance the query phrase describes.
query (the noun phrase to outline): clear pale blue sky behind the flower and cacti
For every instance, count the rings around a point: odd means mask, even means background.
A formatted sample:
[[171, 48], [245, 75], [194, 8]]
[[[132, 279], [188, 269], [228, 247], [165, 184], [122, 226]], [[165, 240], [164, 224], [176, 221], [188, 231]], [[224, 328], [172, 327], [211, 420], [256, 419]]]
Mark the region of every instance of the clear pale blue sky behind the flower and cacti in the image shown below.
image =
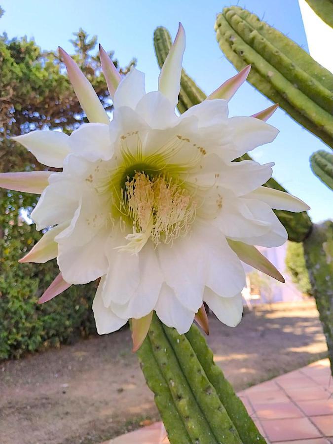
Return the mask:
[[[43, 49], [62, 46], [72, 51], [72, 33], [82, 27], [96, 34], [105, 49], [114, 50], [120, 64], [138, 59], [138, 69], [146, 73], [147, 90], [156, 89], [159, 69], [152, 36], [163, 25], [174, 37], [178, 22], [186, 32], [184, 68], [197, 84], [209, 93], [236, 73], [221, 52], [215, 37], [216, 14], [235, 1], [216, 0], [0, 0], [5, 14], [0, 19], [0, 33], [9, 37], [34, 37]], [[287, 34], [307, 49], [306, 37], [297, 0], [239, 1], [270, 25]], [[246, 83], [229, 103], [230, 115], [251, 115], [267, 108], [271, 102]], [[274, 161], [273, 176], [281, 185], [310, 206], [314, 222], [333, 217], [332, 191], [311, 172], [309, 156], [327, 147], [301, 128], [283, 110], [275, 112], [269, 123], [280, 130], [270, 145], [257, 148], [253, 157], [260, 163]]]

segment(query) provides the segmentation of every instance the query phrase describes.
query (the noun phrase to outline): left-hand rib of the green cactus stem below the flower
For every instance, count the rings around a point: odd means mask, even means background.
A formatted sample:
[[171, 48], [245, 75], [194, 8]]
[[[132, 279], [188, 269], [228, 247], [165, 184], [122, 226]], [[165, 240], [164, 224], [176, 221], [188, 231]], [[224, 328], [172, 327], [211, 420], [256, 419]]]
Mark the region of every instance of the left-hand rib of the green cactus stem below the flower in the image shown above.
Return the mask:
[[184, 422], [174, 404], [167, 381], [154, 358], [148, 337], [143, 342], [137, 355], [148, 387], [154, 393], [155, 404], [161, 414], [170, 442], [178, 444], [190, 443]]

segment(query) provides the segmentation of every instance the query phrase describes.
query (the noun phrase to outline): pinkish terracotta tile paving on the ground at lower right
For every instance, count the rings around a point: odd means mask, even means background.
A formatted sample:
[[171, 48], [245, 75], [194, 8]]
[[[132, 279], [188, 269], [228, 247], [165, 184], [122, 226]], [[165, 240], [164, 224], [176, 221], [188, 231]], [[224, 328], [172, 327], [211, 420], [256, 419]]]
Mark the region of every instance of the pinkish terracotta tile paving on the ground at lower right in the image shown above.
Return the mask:
[[[238, 395], [267, 443], [333, 443], [333, 378], [328, 359], [250, 387]], [[162, 443], [169, 441], [159, 422], [104, 444]]]

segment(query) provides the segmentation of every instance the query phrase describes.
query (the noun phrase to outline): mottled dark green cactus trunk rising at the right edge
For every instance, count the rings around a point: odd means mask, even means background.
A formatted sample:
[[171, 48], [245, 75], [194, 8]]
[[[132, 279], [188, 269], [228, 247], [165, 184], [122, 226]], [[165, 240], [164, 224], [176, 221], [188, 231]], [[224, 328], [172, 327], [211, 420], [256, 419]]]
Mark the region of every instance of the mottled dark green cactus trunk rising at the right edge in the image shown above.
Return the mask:
[[311, 235], [303, 242], [303, 246], [333, 375], [333, 222], [313, 225]]

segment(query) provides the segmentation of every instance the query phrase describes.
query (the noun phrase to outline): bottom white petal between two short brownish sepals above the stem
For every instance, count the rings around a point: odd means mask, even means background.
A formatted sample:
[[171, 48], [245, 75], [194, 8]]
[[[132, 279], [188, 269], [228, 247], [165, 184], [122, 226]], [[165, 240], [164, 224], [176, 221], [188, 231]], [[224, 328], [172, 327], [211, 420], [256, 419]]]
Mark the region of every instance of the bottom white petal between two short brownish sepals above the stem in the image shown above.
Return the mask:
[[188, 310], [179, 302], [166, 284], [162, 285], [155, 310], [163, 324], [175, 328], [179, 334], [188, 332], [195, 315], [194, 311]]

